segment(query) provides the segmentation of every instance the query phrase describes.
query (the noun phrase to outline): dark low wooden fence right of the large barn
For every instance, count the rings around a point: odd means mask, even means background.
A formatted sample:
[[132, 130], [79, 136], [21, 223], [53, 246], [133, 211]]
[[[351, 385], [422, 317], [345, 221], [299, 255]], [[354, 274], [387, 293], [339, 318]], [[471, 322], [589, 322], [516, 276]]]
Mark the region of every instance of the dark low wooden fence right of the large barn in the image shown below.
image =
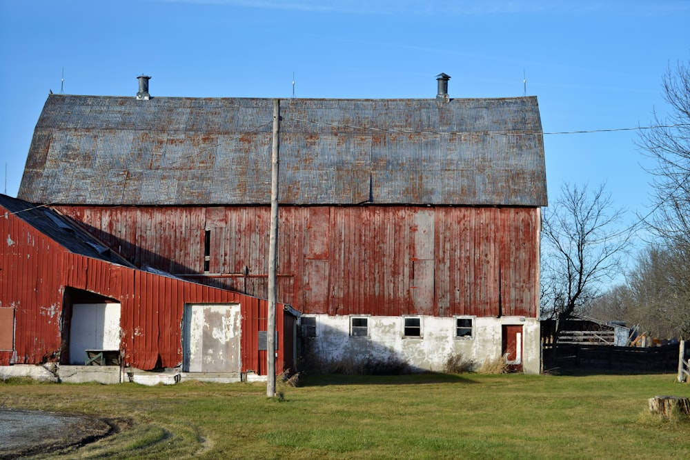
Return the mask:
[[[555, 368], [579, 370], [622, 370], [629, 372], [676, 372], [678, 343], [638, 348], [584, 344], [542, 345], [544, 370]], [[686, 344], [685, 356], [690, 348]]]

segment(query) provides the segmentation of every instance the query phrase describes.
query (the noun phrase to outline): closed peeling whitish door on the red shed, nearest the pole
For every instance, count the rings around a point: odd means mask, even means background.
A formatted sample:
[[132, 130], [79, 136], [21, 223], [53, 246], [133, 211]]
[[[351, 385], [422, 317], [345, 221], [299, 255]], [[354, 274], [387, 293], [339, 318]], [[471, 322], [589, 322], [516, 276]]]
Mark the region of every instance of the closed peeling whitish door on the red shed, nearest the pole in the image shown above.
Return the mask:
[[183, 318], [184, 372], [241, 370], [239, 305], [186, 305]]

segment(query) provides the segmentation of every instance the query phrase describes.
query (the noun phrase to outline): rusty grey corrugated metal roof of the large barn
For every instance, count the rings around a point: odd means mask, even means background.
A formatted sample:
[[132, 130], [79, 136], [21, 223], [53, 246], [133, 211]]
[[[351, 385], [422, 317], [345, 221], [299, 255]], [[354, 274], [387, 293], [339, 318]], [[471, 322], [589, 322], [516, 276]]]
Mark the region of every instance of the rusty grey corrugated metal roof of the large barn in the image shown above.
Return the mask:
[[[545, 206], [536, 97], [282, 99], [283, 204]], [[19, 197], [270, 203], [273, 99], [51, 94]]]

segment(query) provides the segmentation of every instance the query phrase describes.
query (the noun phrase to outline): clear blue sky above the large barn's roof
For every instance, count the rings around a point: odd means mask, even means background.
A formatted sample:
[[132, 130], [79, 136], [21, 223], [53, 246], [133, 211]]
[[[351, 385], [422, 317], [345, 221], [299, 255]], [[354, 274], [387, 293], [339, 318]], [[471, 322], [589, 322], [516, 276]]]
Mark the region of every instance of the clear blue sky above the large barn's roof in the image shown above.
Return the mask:
[[[16, 196], [48, 91], [153, 96], [536, 95], [545, 133], [647, 126], [690, 59], [690, 1], [117, 0], [0, 3], [0, 192]], [[61, 78], [64, 73], [64, 82]], [[634, 130], [546, 134], [549, 196], [603, 181], [646, 212]]]

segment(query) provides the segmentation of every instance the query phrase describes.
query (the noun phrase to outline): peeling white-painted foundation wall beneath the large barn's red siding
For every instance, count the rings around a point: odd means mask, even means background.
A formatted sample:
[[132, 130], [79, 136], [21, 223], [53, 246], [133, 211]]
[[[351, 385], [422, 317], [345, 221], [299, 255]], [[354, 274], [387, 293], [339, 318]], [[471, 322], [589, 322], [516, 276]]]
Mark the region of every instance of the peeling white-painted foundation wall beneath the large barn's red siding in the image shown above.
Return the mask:
[[350, 336], [349, 316], [317, 317], [317, 338], [311, 339], [324, 361], [344, 359], [399, 359], [420, 370], [442, 371], [451, 354], [461, 353], [465, 361], [479, 368], [484, 360], [501, 356], [502, 326], [521, 325], [523, 370], [540, 372], [540, 325], [533, 318], [475, 317], [474, 336], [455, 338], [454, 317], [422, 317], [423, 337], [403, 337], [403, 317], [368, 317], [368, 337]]

